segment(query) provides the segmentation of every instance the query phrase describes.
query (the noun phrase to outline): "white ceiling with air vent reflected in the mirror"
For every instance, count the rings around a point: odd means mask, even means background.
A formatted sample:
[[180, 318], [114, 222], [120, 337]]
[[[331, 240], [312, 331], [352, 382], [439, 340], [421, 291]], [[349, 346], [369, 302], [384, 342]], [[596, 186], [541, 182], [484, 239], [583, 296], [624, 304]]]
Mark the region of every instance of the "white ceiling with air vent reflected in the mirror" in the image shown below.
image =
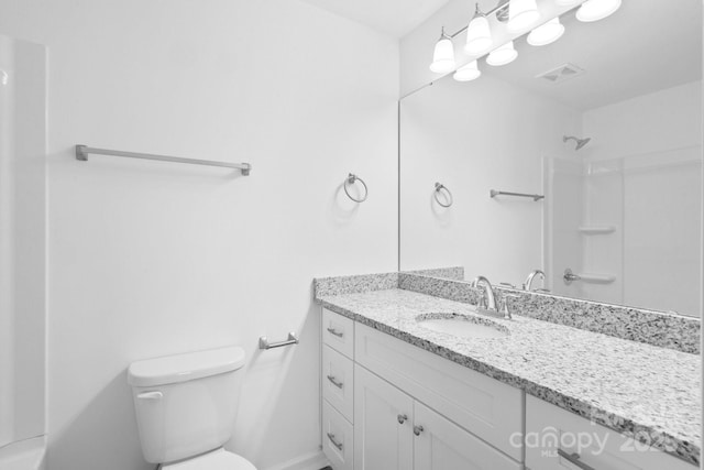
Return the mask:
[[[519, 39], [515, 62], [492, 67], [482, 59], [480, 68], [579, 109], [702, 78], [701, 0], [630, 0], [614, 15], [595, 23], [581, 23], [574, 12], [561, 20], [566, 31], [558, 42], [534, 47], [525, 37]], [[565, 63], [586, 73], [559, 84], [536, 78]]]

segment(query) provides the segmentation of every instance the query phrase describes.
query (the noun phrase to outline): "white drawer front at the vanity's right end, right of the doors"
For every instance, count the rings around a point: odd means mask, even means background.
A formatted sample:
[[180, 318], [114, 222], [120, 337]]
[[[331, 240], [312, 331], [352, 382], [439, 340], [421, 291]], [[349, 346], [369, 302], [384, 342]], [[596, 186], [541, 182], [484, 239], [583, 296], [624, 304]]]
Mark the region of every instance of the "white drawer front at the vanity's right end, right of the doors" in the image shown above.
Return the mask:
[[526, 467], [573, 470], [558, 450], [597, 470], [695, 470], [660, 450], [646, 448], [615, 430], [528, 396], [526, 400]]

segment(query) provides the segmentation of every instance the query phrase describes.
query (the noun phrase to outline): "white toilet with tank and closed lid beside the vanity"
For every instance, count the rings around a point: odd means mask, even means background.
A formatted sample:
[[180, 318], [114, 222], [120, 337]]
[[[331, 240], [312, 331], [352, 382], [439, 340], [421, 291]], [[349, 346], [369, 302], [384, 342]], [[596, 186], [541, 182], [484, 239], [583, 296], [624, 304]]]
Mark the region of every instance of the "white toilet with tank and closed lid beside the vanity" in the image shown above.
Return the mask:
[[232, 436], [242, 365], [240, 347], [132, 363], [128, 382], [146, 461], [163, 470], [256, 470], [222, 447]]

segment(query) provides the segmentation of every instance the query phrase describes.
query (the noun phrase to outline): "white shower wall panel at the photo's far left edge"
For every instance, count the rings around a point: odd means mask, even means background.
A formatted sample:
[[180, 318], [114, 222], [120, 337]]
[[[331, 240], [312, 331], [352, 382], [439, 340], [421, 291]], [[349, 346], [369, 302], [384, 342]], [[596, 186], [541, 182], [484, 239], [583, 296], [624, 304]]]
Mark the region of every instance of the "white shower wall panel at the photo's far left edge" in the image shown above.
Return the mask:
[[44, 434], [45, 48], [0, 35], [0, 447]]

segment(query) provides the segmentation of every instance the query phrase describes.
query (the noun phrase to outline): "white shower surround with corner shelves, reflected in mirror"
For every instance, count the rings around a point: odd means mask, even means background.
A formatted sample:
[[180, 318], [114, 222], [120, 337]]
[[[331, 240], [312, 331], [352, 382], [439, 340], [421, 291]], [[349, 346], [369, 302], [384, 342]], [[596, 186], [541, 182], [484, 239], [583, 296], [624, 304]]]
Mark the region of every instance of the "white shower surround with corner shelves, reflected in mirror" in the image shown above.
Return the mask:
[[546, 159], [546, 266], [556, 294], [700, 311], [700, 139], [647, 149], [593, 141], [588, 154]]

